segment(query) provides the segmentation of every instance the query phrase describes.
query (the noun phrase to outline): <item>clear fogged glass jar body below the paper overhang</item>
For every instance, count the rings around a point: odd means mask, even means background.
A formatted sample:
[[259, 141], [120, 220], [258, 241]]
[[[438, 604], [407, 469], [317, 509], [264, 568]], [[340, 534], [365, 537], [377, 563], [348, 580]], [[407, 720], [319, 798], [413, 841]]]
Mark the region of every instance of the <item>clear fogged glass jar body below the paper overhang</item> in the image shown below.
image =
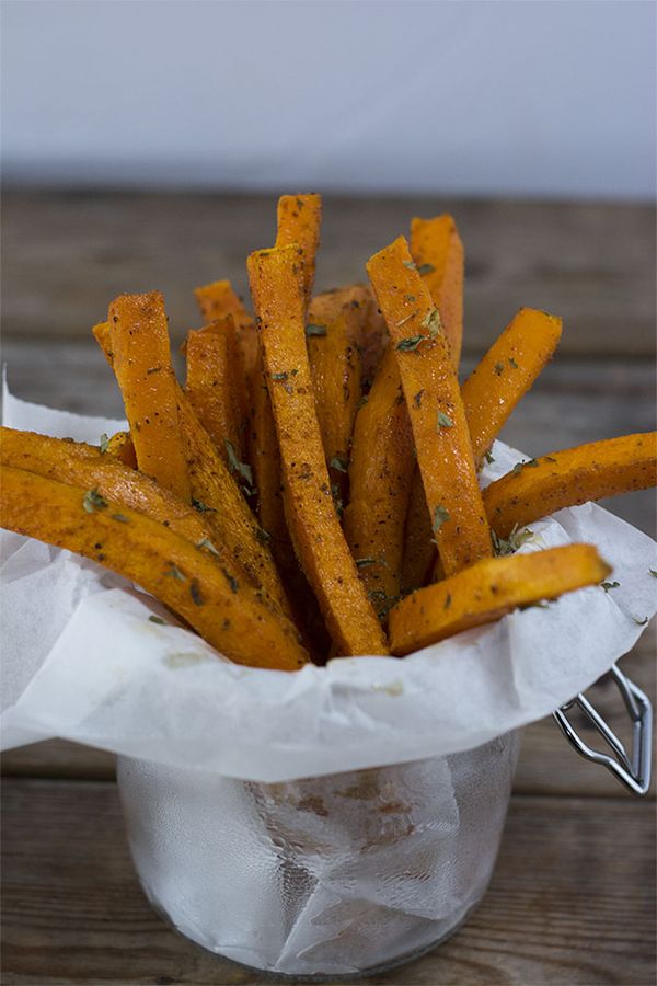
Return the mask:
[[286, 783], [118, 758], [135, 865], [184, 936], [252, 968], [367, 975], [453, 933], [493, 872], [516, 733]]

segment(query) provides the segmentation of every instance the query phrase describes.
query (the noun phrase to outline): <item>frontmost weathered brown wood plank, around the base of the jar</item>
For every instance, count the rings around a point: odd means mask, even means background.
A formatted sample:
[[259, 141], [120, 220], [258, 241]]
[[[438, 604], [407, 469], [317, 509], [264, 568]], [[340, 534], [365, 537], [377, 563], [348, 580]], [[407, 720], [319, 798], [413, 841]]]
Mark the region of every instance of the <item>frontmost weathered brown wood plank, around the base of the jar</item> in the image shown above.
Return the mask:
[[[4, 781], [2, 810], [4, 983], [263, 982], [150, 909], [114, 784]], [[514, 799], [480, 909], [441, 949], [370, 982], [652, 982], [654, 828], [653, 807], [630, 798]]]

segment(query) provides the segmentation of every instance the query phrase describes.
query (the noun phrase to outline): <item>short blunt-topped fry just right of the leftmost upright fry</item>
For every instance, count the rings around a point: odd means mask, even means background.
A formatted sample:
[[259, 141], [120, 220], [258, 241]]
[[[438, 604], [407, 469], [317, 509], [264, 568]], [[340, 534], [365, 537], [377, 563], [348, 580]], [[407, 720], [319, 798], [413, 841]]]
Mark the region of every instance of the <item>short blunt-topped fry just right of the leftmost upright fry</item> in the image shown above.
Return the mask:
[[246, 424], [233, 387], [239, 372], [233, 360], [233, 342], [239, 346], [231, 314], [216, 319], [204, 329], [191, 330], [185, 342], [187, 398], [229, 467], [231, 461], [244, 459]]

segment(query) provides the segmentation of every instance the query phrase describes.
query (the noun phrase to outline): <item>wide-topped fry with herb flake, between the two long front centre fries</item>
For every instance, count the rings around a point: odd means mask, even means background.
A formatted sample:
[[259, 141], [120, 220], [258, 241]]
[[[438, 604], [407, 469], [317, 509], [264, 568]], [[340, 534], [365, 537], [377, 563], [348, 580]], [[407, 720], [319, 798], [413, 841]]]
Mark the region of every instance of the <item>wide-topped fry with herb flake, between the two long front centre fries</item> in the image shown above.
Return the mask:
[[366, 312], [353, 290], [330, 291], [313, 298], [306, 326], [320, 434], [332, 484], [338, 486], [343, 500], [360, 403], [362, 362], [358, 339]]

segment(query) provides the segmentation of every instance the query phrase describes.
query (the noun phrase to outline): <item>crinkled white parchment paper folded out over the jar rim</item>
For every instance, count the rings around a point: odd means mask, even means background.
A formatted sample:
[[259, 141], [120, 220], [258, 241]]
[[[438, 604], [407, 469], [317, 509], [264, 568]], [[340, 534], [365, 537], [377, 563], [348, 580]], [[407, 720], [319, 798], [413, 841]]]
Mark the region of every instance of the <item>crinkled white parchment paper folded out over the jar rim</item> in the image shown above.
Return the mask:
[[[125, 426], [7, 390], [3, 405], [9, 426], [79, 440]], [[502, 443], [493, 455], [484, 482], [525, 458]], [[531, 530], [522, 551], [595, 543], [619, 587], [516, 611], [403, 660], [339, 658], [296, 674], [231, 664], [125, 580], [3, 532], [2, 746], [59, 736], [254, 781], [476, 747], [591, 685], [657, 609], [657, 546], [646, 535], [593, 504]]]

